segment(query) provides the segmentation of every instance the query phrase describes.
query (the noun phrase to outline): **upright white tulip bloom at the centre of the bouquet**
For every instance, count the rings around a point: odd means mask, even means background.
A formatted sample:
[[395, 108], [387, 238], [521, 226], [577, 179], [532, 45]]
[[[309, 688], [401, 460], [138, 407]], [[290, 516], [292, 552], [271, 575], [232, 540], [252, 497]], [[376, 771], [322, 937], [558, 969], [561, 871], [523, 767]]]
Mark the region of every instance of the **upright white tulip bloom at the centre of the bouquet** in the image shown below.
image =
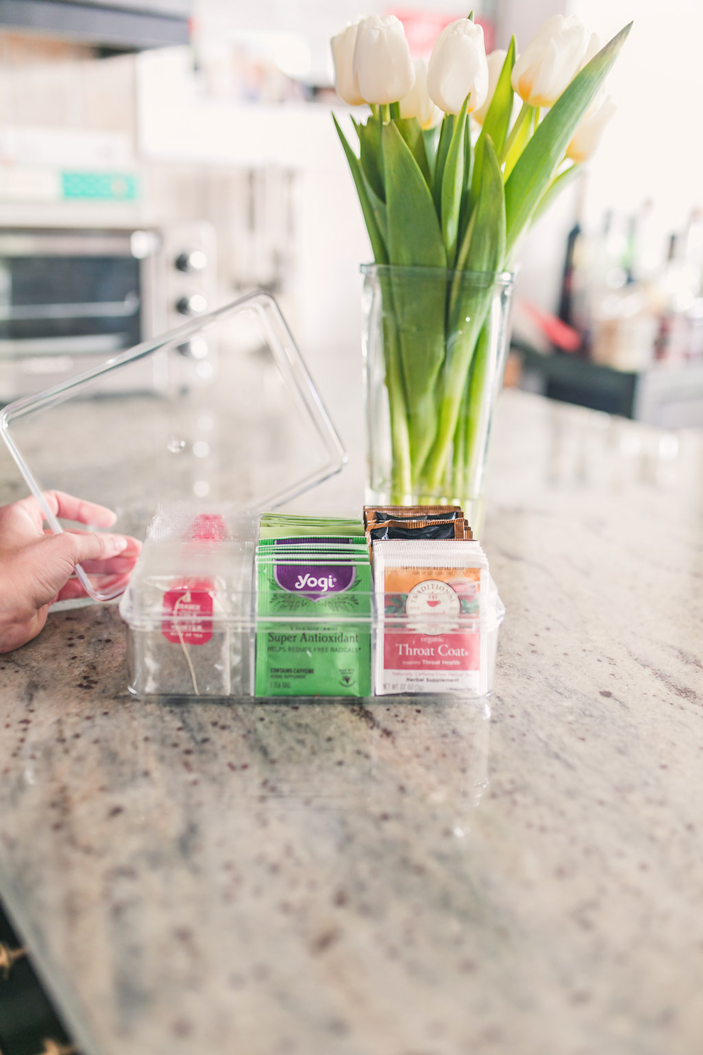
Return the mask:
[[457, 114], [469, 94], [469, 113], [485, 101], [488, 62], [484, 31], [471, 19], [451, 22], [437, 37], [427, 71], [427, 90], [445, 114]]

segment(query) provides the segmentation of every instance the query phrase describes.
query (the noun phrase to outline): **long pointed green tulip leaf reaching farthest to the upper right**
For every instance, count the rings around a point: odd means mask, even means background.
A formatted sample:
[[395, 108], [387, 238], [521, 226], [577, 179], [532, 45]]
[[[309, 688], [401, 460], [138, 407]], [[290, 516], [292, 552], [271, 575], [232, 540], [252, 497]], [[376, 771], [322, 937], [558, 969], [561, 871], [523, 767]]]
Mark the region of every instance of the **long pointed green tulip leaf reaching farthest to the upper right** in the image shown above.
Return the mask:
[[505, 185], [507, 248], [510, 253], [554, 177], [564, 152], [625, 43], [632, 23], [624, 26], [577, 74], [539, 126]]

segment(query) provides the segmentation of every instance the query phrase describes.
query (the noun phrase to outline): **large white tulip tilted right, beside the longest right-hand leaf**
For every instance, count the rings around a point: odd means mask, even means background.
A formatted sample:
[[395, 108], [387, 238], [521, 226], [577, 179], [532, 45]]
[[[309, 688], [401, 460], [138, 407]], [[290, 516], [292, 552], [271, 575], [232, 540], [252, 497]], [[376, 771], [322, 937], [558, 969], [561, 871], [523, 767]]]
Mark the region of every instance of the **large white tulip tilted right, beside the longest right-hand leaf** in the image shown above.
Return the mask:
[[543, 22], [512, 68], [511, 83], [531, 107], [551, 107], [581, 68], [588, 30], [575, 15]]

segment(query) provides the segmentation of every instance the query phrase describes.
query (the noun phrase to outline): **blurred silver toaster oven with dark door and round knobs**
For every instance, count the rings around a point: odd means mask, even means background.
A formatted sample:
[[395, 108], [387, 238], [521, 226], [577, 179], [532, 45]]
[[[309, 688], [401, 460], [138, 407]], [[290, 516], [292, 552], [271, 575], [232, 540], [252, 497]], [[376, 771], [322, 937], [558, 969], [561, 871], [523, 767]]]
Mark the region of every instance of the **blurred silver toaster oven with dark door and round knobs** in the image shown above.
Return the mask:
[[207, 223], [0, 228], [0, 403], [174, 328], [214, 308], [215, 298], [215, 235]]

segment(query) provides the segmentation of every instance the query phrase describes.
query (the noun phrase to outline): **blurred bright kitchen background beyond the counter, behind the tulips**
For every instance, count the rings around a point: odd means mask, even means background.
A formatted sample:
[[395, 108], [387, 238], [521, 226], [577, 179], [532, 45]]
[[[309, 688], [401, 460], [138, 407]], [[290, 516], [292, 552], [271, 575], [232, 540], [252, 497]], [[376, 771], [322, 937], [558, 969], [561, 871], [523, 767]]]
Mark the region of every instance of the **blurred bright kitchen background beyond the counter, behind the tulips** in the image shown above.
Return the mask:
[[[350, 447], [370, 250], [330, 111], [329, 38], [396, 14], [415, 55], [462, 0], [2, 0], [0, 401], [259, 286]], [[474, 0], [487, 50], [634, 19], [589, 173], [522, 252], [507, 383], [703, 425], [699, 0]], [[190, 354], [212, 369], [207, 345]]]

